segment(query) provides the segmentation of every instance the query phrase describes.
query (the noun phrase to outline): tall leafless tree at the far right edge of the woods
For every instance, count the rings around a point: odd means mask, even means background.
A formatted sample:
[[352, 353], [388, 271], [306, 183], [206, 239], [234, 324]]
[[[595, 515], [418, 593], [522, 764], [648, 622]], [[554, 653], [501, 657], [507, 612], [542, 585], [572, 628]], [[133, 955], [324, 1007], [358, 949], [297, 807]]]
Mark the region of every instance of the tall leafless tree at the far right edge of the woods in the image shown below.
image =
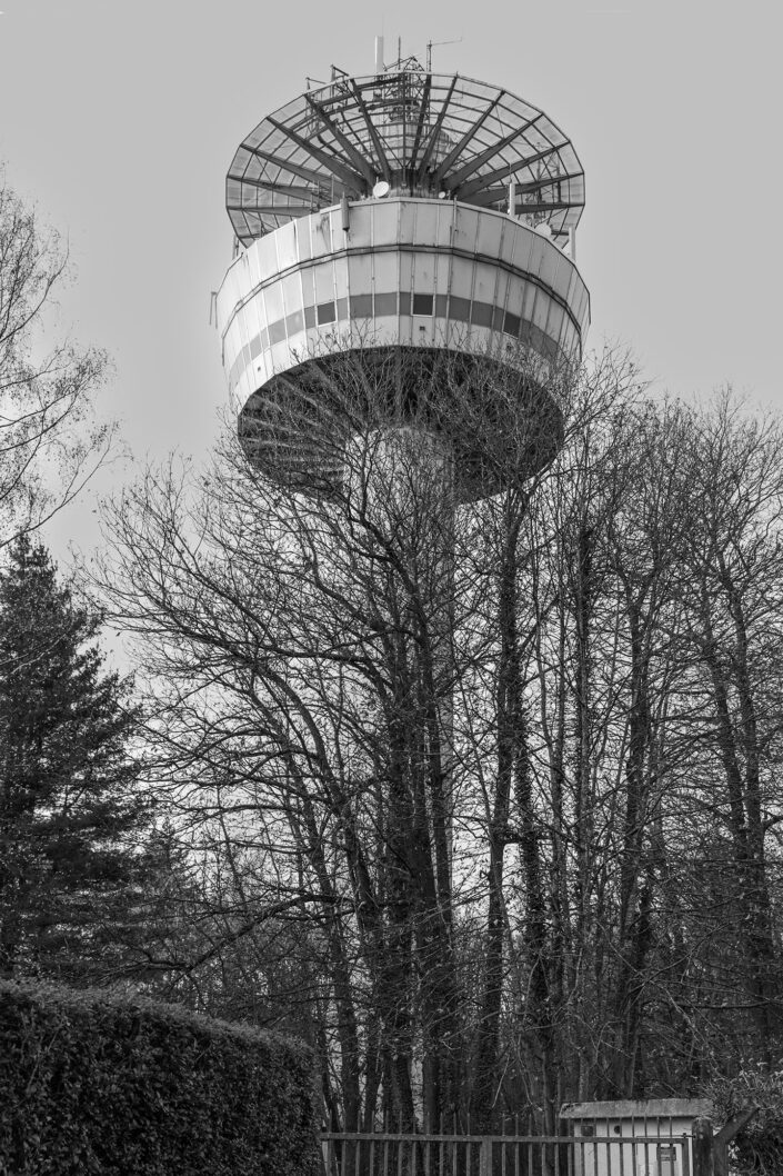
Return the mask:
[[688, 584], [683, 639], [701, 703], [692, 736], [705, 761], [702, 777], [709, 773], [700, 799], [712, 833], [705, 849], [712, 901], [721, 908], [716, 926], [723, 924], [714, 951], [721, 943], [728, 949], [722, 965], [717, 954], [714, 960], [730, 973], [708, 1003], [731, 1009], [735, 1025], [743, 1020], [752, 1025], [749, 1051], [768, 1067], [778, 1057], [783, 1011], [775, 917], [782, 818], [781, 441], [778, 421], [749, 414], [724, 393], [696, 416], [680, 469], [690, 522], [680, 544], [683, 588]]

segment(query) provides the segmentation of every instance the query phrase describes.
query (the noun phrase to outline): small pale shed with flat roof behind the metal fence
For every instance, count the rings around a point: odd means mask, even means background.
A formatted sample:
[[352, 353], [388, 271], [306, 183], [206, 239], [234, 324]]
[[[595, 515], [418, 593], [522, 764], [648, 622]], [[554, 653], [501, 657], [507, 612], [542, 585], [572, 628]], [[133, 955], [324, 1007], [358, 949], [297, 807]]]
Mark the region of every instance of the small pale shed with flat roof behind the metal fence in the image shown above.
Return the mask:
[[574, 1136], [574, 1176], [690, 1176], [694, 1122], [707, 1098], [564, 1103]]

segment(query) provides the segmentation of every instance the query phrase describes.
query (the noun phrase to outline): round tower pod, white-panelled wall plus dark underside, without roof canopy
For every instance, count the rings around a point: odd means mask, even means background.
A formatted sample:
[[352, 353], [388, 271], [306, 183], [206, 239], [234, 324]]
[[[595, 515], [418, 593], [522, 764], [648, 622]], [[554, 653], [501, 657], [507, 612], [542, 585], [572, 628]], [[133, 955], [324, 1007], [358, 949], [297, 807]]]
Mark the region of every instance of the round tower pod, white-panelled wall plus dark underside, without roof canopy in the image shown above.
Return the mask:
[[240, 253], [218, 296], [240, 436], [270, 476], [329, 489], [346, 437], [411, 423], [449, 439], [463, 500], [500, 489], [520, 421], [529, 473], [551, 459], [588, 315], [549, 235], [410, 198], [292, 221]]

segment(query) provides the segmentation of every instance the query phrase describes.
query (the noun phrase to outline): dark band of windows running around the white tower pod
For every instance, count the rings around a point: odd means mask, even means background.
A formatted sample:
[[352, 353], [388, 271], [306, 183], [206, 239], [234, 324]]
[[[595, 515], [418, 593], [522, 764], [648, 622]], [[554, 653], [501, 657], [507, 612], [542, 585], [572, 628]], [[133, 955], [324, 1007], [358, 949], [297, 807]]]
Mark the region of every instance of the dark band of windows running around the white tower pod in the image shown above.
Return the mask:
[[[556, 340], [534, 323], [523, 322], [520, 315], [489, 302], [471, 302], [470, 299], [457, 298], [454, 294], [410, 294], [404, 290], [390, 294], [353, 294], [350, 300], [340, 298], [335, 301], [319, 302], [316, 306], [306, 306], [302, 310], [294, 310], [286, 318], [269, 323], [268, 327], [262, 327], [234, 360], [228, 373], [228, 386], [233, 392], [245, 368], [257, 359], [262, 350], [274, 343], [282, 343], [307, 328], [326, 327], [349, 319], [380, 319], [397, 314], [424, 318], [431, 318], [434, 314], [436, 319], [487, 327], [521, 340], [524, 346], [531, 347], [544, 359], [551, 361], [557, 359]], [[571, 325], [571, 330], [567, 329], [566, 335], [570, 336], [573, 342], [576, 339], [576, 328]]]

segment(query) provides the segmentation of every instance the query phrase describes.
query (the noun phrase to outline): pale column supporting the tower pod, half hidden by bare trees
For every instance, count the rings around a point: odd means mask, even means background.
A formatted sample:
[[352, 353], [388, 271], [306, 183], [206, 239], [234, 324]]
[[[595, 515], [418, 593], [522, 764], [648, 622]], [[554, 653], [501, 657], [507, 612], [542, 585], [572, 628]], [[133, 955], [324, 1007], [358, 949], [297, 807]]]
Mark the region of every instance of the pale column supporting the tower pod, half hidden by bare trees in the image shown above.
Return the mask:
[[[420, 962], [422, 1120], [457, 1105], [459, 1024], [451, 911], [454, 838], [454, 492], [450, 448], [434, 433], [394, 426], [356, 436], [346, 450], [349, 501], [369, 524], [368, 556], [382, 562], [367, 583], [380, 656], [393, 680], [389, 734], [394, 788], [384, 835], [401, 893], [399, 942], [413, 934]], [[392, 761], [390, 761], [392, 763]], [[396, 807], [395, 807], [396, 806]], [[406, 949], [408, 950], [408, 949]], [[403, 950], [400, 949], [400, 958]], [[404, 988], [407, 981], [400, 981]], [[409, 1023], [406, 1022], [407, 1033]], [[409, 1128], [408, 1128], [409, 1129]]]

